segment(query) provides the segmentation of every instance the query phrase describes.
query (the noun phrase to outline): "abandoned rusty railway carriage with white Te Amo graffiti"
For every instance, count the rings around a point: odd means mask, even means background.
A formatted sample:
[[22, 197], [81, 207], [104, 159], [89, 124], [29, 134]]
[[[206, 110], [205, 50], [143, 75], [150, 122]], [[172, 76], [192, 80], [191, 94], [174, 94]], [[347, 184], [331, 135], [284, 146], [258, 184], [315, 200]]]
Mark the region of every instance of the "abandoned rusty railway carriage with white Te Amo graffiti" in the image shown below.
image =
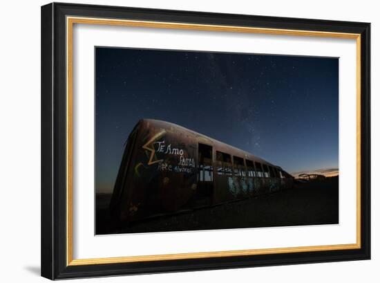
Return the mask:
[[283, 188], [281, 167], [195, 131], [140, 120], [129, 135], [111, 212], [122, 221], [212, 206]]

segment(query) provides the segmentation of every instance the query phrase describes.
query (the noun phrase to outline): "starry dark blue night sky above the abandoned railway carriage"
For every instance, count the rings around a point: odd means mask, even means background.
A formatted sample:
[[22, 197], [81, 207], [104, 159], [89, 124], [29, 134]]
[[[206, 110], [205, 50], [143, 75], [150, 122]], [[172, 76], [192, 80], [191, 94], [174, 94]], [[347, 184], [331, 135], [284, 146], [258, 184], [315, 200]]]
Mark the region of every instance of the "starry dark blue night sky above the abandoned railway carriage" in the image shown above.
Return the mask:
[[338, 167], [339, 60], [96, 48], [96, 190], [112, 192], [129, 133], [166, 120], [279, 165]]

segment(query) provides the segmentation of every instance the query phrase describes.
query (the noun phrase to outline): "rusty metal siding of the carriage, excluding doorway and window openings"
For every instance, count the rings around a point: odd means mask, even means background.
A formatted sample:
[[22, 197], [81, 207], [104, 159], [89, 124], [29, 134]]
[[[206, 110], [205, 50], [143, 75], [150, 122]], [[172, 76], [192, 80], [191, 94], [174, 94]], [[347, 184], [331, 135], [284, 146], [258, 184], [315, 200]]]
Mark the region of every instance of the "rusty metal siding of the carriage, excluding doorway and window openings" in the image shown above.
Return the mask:
[[[292, 179], [248, 176], [246, 159], [254, 164], [281, 168], [195, 131], [159, 120], [140, 120], [136, 127], [131, 161], [128, 168], [122, 168], [126, 166], [122, 163], [115, 184], [116, 192], [122, 176], [122, 197], [114, 205], [118, 206], [120, 218], [125, 221], [196, 206], [193, 200], [199, 181], [199, 143], [212, 147], [213, 194], [209, 204], [254, 197], [292, 186]], [[216, 152], [231, 156], [231, 175], [218, 174]], [[124, 151], [124, 154], [127, 153]], [[244, 168], [234, 164], [234, 156], [243, 158]]]

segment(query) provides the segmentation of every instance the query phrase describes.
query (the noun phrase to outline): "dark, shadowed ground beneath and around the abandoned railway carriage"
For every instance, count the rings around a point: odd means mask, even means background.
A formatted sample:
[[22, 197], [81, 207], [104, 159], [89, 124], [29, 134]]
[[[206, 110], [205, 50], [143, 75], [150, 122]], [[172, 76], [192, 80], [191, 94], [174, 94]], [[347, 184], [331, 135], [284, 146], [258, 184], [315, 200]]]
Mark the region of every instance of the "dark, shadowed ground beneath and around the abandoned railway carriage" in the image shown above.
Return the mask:
[[251, 199], [154, 217], [122, 226], [111, 219], [111, 194], [97, 194], [96, 234], [212, 230], [339, 223], [338, 176]]

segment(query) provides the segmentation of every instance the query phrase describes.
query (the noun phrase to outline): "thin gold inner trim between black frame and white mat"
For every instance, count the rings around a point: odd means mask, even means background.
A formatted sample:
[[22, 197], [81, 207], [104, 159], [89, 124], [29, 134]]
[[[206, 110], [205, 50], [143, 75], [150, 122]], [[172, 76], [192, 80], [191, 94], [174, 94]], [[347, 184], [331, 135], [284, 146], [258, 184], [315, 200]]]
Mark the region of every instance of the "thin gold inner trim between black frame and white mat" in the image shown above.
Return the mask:
[[[205, 253], [178, 253], [165, 255], [139, 255], [127, 257], [104, 257], [73, 259], [73, 26], [93, 24], [111, 26], [135, 26], [143, 28], [171, 28], [183, 30], [205, 30], [232, 33], [256, 33], [267, 35], [295, 35], [308, 37], [334, 37], [356, 39], [357, 45], [357, 242], [327, 246], [297, 246], [287, 248], [260, 248], [251, 250], [221, 250]], [[278, 253], [303, 253], [324, 250], [348, 250], [361, 248], [361, 35], [356, 33], [334, 33], [317, 30], [287, 30], [278, 28], [254, 28], [245, 26], [222, 26], [208, 24], [186, 24], [164, 21], [137, 21], [128, 19], [103, 19], [90, 17], [66, 17], [66, 264], [79, 266], [88, 264], [116, 264], [126, 262], [149, 262], [173, 259], [200, 259], [207, 257], [232, 257], [242, 255], [269, 255]]]

